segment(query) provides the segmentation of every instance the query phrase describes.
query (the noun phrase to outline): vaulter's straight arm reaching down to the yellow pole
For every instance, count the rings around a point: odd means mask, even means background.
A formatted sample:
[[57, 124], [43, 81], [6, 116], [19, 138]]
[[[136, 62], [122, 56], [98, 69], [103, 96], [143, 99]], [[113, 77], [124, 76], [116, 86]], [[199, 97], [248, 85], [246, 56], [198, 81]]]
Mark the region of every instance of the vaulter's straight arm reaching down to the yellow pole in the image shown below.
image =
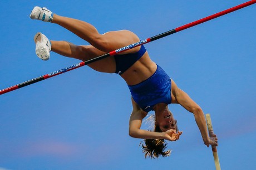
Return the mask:
[[186, 92], [179, 89], [179, 87], [175, 84], [173, 80], [171, 80], [171, 94], [173, 95], [173, 100], [183, 106], [186, 110], [193, 113], [195, 117], [196, 124], [199, 127], [201, 132], [201, 136], [206, 146], [216, 145], [218, 146], [218, 138], [208, 136], [208, 130], [206, 127], [206, 121], [204, 117], [204, 112], [201, 107], [194, 102]]

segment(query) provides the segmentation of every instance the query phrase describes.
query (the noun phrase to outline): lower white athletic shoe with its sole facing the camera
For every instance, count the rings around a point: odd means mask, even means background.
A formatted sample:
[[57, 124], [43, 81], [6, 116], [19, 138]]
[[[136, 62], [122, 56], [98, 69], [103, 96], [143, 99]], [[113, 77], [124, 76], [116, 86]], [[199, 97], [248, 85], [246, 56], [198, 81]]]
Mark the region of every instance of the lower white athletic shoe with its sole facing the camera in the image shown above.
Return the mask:
[[37, 33], [34, 37], [36, 43], [36, 55], [42, 60], [48, 60], [50, 58], [51, 42], [42, 33]]

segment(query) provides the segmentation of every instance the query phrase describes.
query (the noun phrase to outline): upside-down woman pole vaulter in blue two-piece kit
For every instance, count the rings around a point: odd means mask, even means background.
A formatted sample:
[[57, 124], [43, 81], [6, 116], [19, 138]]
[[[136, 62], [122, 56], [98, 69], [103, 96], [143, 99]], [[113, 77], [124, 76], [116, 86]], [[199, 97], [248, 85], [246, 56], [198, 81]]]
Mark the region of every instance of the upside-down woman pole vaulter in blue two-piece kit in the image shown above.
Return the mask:
[[[30, 18], [58, 24], [91, 44], [74, 45], [66, 41], [49, 40], [42, 33], [37, 33], [34, 37], [36, 54], [42, 60], [48, 60], [50, 51], [54, 51], [63, 56], [86, 61], [140, 40], [129, 30], [99, 34], [93, 25], [58, 16], [45, 7], [35, 7]], [[180, 104], [193, 113], [204, 144], [208, 147], [218, 146], [216, 135], [208, 136], [203, 110], [150, 59], [143, 45], [95, 61], [88, 66], [96, 71], [119, 74], [126, 81], [131, 92], [133, 107], [129, 121], [129, 135], [145, 139], [145, 145], [142, 144], [145, 157], [169, 156], [170, 150], [165, 151], [164, 140], [179, 140], [182, 132], [178, 131], [177, 121], [168, 108], [169, 104]], [[141, 129], [142, 120], [149, 111], [155, 112], [154, 132]]]

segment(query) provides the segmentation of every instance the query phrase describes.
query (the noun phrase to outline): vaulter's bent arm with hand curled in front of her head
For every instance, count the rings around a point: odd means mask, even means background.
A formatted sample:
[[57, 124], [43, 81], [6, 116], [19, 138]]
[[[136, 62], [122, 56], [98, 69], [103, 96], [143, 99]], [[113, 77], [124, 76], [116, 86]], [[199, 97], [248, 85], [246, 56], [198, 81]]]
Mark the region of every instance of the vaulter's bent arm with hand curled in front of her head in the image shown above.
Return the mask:
[[141, 130], [142, 119], [147, 115], [146, 112], [141, 111], [140, 107], [132, 99], [132, 114], [129, 121], [129, 135], [135, 138], [142, 139], [165, 139], [169, 141], [176, 141], [179, 139], [179, 133], [175, 130], [168, 130], [166, 132], [151, 132], [146, 130]]

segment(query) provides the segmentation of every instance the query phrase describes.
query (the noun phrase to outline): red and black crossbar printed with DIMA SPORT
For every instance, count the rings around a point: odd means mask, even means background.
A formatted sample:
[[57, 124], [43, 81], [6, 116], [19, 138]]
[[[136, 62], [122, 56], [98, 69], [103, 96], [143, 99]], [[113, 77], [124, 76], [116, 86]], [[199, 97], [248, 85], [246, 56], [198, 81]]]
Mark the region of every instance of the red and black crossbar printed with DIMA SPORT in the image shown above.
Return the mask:
[[213, 14], [213, 15], [211, 15], [211, 16], [208, 16], [208, 17], [205, 17], [205, 18], [196, 20], [195, 22], [191, 22], [191, 23], [185, 24], [185, 25], [183, 25], [183, 26], [181, 26], [181, 27], [178, 27], [178, 28], [169, 30], [168, 32], [165, 32], [165, 33], [156, 35], [156, 36], [151, 37], [151, 38], [147, 38], [147, 39], [145, 39], [145, 40], [141, 40], [140, 42], [137, 42], [137, 43], [134, 43], [134, 44], [127, 45], [126, 47], [122, 47], [122, 48], [120, 48], [120, 49], [111, 51], [110, 53], [106, 53], [106, 54], [104, 54], [104, 55], [97, 56], [96, 58], [93, 58], [93, 59], [91, 59], [91, 60], [82, 61], [81, 63], [68, 66], [67, 68], [64, 68], [64, 69], [61, 69], [61, 70], [57, 70], [57, 71], [53, 71], [52, 73], [49, 73], [49, 74], [40, 76], [40, 77], [35, 78], [35, 79], [32, 79], [32, 80], [25, 81], [24, 83], [21, 83], [21, 84], [17, 84], [17, 85], [8, 87], [8, 88], [6, 88], [6, 89], [0, 90], [0, 95], [5, 94], [6, 92], [9, 92], [9, 91], [13, 91], [13, 90], [19, 89], [19, 88], [24, 87], [24, 86], [27, 86], [27, 85], [31, 85], [31, 84], [37, 83], [38, 81], [42, 81], [42, 80], [51, 78], [51, 77], [53, 77], [53, 76], [56, 76], [56, 75], [65, 73], [65, 72], [67, 72], [67, 71], [80, 68], [81, 66], [90, 64], [90, 63], [92, 63], [92, 62], [95, 62], [95, 61], [98, 61], [98, 60], [101, 60], [101, 59], [104, 59], [104, 58], [107, 58], [108, 56], [115, 55], [115, 54], [117, 54], [117, 53], [121, 53], [121, 52], [123, 52], [123, 51], [126, 51], [126, 50], [129, 50], [129, 49], [138, 47], [138, 46], [140, 46], [140, 45], [142, 45], [142, 44], [146, 44], [146, 43], [152, 42], [152, 41], [154, 41], [154, 40], [157, 40], [157, 39], [166, 37], [166, 36], [168, 36], [168, 35], [174, 34], [174, 33], [176, 33], [176, 32], [180, 32], [181, 30], [184, 30], [184, 29], [187, 29], [187, 28], [190, 28], [190, 27], [194, 27], [195, 25], [204, 23], [204, 22], [206, 22], [206, 21], [208, 21], [208, 20], [211, 20], [211, 19], [214, 19], [214, 18], [218, 18], [218, 17], [223, 16], [223, 15], [225, 15], [225, 14], [228, 14], [228, 13], [230, 13], [230, 12], [237, 11], [238, 9], [241, 9], [241, 8], [244, 8], [244, 7], [247, 7], [247, 6], [250, 6], [250, 5], [254, 4], [254, 3], [256, 3], [256, 0], [245, 2], [245, 3], [240, 4], [240, 5], [238, 5], [238, 6], [235, 6], [235, 7], [229, 8], [229, 9], [226, 9], [225, 11], [221, 11], [221, 12], [216, 13], [216, 14]]

